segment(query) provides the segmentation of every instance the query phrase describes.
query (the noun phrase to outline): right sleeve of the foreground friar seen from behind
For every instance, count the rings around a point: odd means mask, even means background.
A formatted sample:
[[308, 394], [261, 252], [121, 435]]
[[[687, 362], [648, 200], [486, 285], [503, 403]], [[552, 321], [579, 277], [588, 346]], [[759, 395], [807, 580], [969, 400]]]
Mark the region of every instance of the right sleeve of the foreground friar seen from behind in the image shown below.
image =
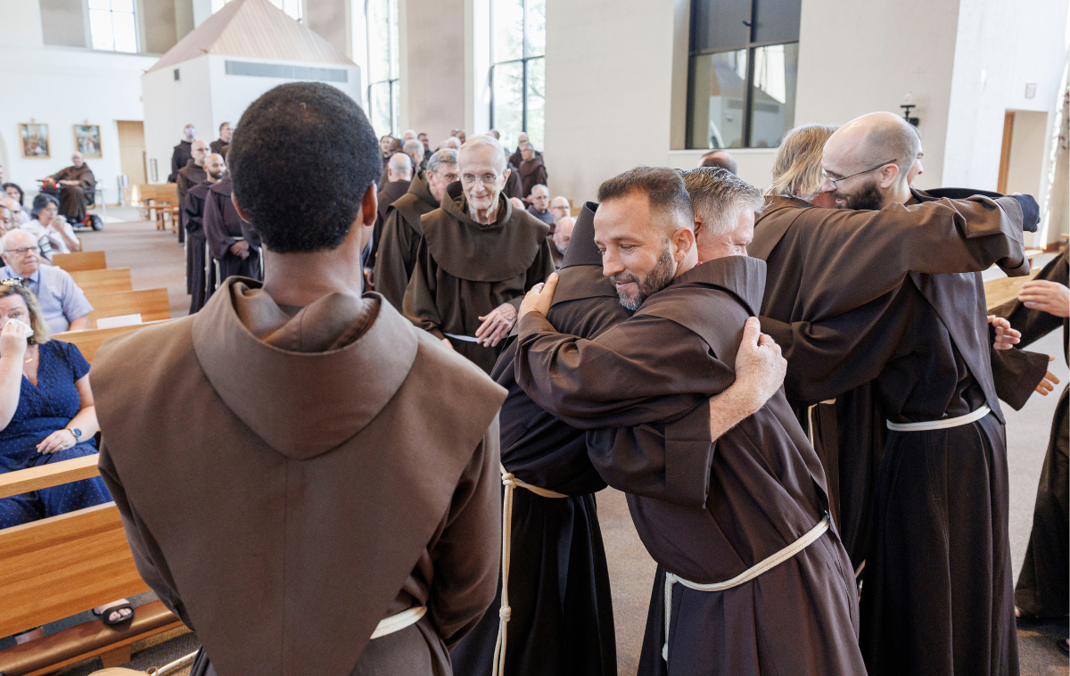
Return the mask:
[[502, 479], [498, 417], [461, 474], [434, 547], [427, 606], [447, 648], [479, 621], [498, 592], [502, 546]]

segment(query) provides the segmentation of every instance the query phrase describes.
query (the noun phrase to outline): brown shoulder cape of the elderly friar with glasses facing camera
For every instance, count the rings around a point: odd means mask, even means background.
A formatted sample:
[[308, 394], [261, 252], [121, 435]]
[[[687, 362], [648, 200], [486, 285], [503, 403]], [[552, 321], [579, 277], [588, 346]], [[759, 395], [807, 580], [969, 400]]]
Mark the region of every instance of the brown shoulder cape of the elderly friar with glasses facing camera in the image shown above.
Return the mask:
[[460, 182], [450, 183], [442, 206], [421, 219], [427, 249], [439, 267], [458, 279], [504, 281], [522, 275], [535, 261], [550, 228], [498, 197], [498, 220], [484, 226], [467, 211]]

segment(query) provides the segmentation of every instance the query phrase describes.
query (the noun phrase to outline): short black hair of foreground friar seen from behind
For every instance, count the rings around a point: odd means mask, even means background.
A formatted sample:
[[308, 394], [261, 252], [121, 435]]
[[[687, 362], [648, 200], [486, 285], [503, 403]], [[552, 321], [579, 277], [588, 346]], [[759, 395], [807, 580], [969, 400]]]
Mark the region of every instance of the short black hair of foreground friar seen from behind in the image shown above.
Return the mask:
[[383, 170], [364, 111], [322, 82], [280, 84], [253, 102], [227, 160], [238, 203], [279, 253], [340, 245]]

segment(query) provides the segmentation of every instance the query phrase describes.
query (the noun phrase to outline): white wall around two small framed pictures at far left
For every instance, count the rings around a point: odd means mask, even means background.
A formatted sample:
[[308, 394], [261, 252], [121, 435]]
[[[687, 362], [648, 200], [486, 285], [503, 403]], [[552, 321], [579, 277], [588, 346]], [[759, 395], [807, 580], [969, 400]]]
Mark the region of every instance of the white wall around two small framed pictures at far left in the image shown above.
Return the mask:
[[[102, 157], [87, 158], [86, 163], [93, 170], [97, 184], [105, 188], [105, 198], [116, 201], [116, 176], [121, 173], [116, 121], [143, 119], [141, 73], [156, 59], [86, 49], [9, 45], [0, 45], [4, 87], [3, 105], [0, 105], [0, 137], [3, 137], [0, 163], [4, 167], [4, 180], [19, 184], [30, 198], [37, 191], [37, 179], [71, 165], [75, 151], [74, 125], [97, 124], [101, 126]], [[48, 158], [21, 156], [18, 125], [31, 120], [48, 124]]]

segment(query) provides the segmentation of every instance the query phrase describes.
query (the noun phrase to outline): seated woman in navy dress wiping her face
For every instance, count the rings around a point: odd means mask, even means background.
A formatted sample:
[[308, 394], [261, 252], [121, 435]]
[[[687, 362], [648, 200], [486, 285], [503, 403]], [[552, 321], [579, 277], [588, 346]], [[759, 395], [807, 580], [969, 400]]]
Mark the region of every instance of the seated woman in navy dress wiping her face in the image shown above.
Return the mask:
[[[75, 345], [50, 340], [33, 293], [0, 281], [0, 473], [96, 452], [101, 429], [89, 363]], [[0, 500], [0, 528], [111, 502], [100, 477]], [[133, 617], [125, 599], [94, 609], [109, 625]], [[41, 635], [33, 630], [19, 642]]]

